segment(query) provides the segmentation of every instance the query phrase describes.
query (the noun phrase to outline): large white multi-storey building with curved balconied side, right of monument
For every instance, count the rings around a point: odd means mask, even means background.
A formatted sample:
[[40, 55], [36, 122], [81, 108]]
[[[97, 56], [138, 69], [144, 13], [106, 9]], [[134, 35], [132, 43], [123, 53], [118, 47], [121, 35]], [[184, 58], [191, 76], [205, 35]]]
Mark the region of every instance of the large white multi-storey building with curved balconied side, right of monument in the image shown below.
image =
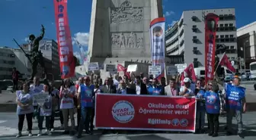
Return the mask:
[[[206, 14], [219, 15], [216, 45], [226, 45], [230, 60], [237, 60], [235, 8], [183, 11], [181, 19], [165, 32], [167, 55], [183, 55], [185, 64], [204, 67]], [[222, 54], [219, 54], [220, 58]], [[234, 65], [237, 68], [237, 63]]]

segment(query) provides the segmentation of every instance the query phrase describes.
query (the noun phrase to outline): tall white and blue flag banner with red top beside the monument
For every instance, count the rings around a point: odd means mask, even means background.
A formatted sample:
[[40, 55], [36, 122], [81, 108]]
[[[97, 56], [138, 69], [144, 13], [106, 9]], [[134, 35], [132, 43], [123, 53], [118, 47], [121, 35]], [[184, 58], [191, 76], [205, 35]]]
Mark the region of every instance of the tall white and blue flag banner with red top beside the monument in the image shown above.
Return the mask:
[[150, 23], [150, 45], [152, 66], [161, 66], [161, 72], [155, 76], [165, 76], [165, 17], [155, 18]]

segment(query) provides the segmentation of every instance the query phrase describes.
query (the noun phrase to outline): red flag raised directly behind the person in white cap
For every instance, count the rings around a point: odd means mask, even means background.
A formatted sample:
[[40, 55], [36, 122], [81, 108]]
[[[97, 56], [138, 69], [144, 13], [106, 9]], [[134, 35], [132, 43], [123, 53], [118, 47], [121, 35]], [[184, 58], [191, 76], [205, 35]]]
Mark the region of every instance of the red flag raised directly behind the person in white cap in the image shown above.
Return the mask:
[[193, 82], [197, 81], [197, 76], [196, 73], [194, 72], [193, 64], [188, 65], [188, 67], [186, 67], [184, 71], [181, 73], [181, 85], [184, 84], [183, 79], [185, 77], [189, 77], [190, 79], [192, 79]]

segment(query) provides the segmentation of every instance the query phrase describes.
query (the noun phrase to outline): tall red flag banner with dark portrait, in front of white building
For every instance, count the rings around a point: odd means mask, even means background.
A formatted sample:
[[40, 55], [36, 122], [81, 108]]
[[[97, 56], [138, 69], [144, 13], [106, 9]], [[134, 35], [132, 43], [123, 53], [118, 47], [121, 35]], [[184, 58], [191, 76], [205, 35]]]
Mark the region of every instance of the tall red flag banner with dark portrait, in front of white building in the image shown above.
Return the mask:
[[219, 17], [216, 14], [210, 13], [205, 18], [205, 81], [214, 78], [214, 64], [215, 64], [215, 39], [216, 39], [216, 27], [219, 21]]

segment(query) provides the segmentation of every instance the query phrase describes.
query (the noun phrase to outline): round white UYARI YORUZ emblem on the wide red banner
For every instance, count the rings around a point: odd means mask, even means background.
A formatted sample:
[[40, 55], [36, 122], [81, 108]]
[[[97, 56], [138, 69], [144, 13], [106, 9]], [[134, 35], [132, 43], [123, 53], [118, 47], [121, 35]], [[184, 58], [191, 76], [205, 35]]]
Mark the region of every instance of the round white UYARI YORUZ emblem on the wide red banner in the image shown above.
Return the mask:
[[134, 117], [134, 107], [129, 101], [118, 101], [112, 107], [112, 115], [114, 120], [119, 123], [128, 123], [133, 120]]

